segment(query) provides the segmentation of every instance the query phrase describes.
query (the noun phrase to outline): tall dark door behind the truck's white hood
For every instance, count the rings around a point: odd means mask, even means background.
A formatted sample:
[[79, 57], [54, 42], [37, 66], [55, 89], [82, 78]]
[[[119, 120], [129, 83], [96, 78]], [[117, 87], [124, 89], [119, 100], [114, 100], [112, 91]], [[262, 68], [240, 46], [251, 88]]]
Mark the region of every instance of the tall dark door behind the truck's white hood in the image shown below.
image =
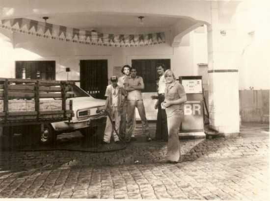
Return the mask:
[[97, 99], [106, 99], [105, 92], [108, 85], [107, 60], [80, 61], [81, 88]]

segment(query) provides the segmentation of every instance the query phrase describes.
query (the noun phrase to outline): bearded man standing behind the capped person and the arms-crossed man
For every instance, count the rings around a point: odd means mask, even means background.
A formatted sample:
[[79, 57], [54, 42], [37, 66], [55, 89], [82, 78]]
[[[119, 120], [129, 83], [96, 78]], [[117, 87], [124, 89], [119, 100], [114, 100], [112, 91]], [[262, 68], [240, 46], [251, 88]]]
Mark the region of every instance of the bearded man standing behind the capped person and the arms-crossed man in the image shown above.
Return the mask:
[[[129, 65], [125, 65], [122, 67], [121, 72], [122, 72], [123, 76], [118, 78], [118, 85], [119, 86], [125, 88], [124, 82], [125, 82], [125, 79], [127, 77], [130, 77], [130, 69], [131, 69], [131, 67]], [[123, 103], [123, 108], [122, 108], [122, 113], [121, 113], [121, 121], [120, 121], [120, 135], [122, 138], [125, 138], [125, 136], [126, 136], [127, 108], [128, 108], [128, 101], [126, 100], [126, 97], [125, 97], [125, 100]], [[131, 141], [136, 140], [136, 138], [134, 136], [135, 127], [136, 127], [136, 114], [134, 114], [134, 122], [133, 122], [133, 125], [131, 128], [132, 129]]]

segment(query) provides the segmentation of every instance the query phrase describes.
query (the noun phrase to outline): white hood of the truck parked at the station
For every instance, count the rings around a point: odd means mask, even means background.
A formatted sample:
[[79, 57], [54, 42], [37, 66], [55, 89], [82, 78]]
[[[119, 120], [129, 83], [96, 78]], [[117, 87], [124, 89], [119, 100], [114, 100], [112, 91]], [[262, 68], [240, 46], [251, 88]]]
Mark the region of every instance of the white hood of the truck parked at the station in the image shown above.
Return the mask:
[[95, 99], [93, 97], [76, 97], [76, 98], [70, 98], [68, 100], [73, 100], [74, 112], [76, 112], [78, 109], [104, 106], [106, 102], [106, 100]]

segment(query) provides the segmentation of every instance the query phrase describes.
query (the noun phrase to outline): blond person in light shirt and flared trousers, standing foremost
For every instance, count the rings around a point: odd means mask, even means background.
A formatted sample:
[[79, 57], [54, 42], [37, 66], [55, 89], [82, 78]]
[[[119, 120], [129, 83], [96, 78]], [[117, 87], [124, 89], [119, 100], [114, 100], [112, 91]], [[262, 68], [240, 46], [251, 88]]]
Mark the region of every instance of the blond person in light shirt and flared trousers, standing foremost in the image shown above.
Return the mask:
[[168, 144], [166, 159], [169, 163], [177, 163], [180, 159], [179, 128], [184, 117], [184, 102], [187, 96], [184, 87], [175, 79], [171, 70], [164, 73], [166, 80], [165, 100], [162, 107], [165, 108], [168, 124]]

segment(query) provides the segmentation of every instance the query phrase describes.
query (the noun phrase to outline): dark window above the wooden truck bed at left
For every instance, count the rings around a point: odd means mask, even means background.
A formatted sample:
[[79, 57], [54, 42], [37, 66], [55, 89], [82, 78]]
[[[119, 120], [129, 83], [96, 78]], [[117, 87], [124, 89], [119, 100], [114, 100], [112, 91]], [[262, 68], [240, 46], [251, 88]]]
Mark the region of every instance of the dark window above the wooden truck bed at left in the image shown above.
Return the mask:
[[55, 61], [16, 61], [16, 78], [55, 80]]

